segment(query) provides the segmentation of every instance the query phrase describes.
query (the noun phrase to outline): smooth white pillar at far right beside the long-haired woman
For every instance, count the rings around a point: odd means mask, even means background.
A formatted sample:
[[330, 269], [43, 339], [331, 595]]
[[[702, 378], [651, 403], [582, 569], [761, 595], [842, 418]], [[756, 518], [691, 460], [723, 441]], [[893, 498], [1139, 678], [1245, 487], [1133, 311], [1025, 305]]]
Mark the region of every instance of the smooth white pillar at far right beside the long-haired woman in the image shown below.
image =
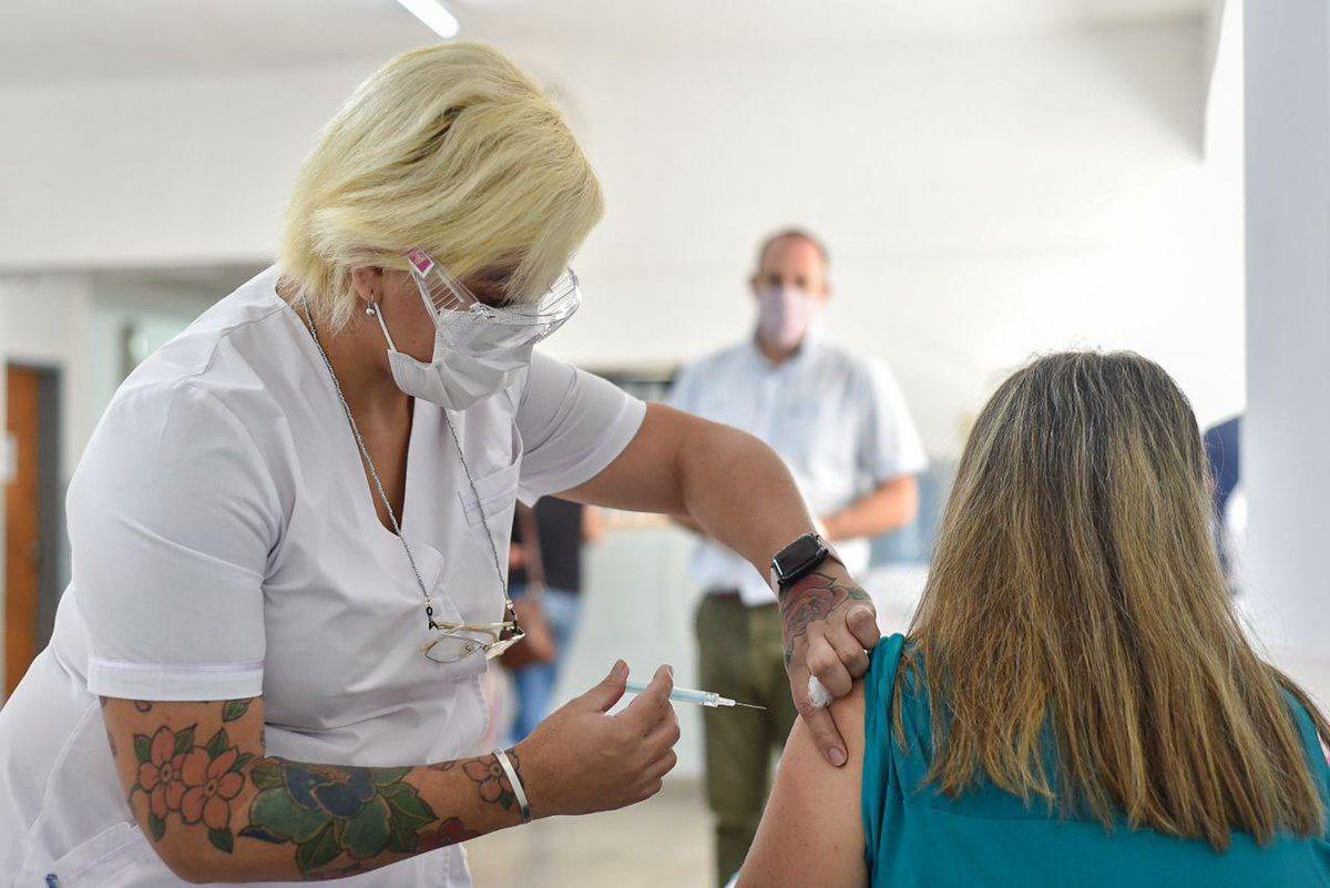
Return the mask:
[[1330, 703], [1330, 19], [1246, 7], [1248, 606], [1277, 662]]

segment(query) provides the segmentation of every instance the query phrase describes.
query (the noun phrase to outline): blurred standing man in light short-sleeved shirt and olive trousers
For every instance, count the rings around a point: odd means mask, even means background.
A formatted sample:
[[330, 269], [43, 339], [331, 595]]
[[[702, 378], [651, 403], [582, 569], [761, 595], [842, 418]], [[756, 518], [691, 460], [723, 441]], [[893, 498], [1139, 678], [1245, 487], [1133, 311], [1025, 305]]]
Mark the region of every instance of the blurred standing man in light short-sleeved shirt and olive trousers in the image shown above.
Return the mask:
[[[890, 370], [826, 340], [829, 257], [802, 230], [767, 238], [750, 288], [757, 330], [685, 367], [670, 403], [750, 432], [777, 451], [851, 574], [868, 565], [872, 537], [914, 520], [923, 445]], [[685, 522], [686, 524], [686, 522]], [[696, 526], [692, 526], [697, 530]], [[706, 710], [706, 792], [716, 812], [717, 879], [743, 861], [766, 804], [773, 754], [794, 724], [781, 617], [767, 578], [702, 540], [693, 572], [701, 686], [755, 710]]]

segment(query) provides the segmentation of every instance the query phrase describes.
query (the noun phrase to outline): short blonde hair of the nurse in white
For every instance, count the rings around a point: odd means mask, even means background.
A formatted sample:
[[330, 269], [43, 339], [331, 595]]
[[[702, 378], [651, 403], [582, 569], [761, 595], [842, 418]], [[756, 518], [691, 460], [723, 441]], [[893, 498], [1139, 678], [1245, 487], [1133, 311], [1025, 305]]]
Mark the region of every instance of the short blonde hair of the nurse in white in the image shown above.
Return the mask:
[[507, 296], [549, 287], [604, 214], [563, 116], [492, 47], [398, 56], [329, 121], [295, 178], [279, 265], [332, 328], [351, 270], [430, 253], [455, 278], [512, 269]]

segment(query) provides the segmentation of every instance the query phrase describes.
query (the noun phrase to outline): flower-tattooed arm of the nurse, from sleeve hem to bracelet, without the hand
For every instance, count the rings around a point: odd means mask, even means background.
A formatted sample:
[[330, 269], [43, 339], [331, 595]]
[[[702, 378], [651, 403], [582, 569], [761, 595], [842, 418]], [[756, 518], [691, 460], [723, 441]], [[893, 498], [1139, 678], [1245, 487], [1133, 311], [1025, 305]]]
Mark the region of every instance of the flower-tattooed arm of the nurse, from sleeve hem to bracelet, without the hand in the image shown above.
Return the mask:
[[382, 768], [265, 756], [262, 699], [110, 699], [102, 717], [130, 808], [196, 881], [335, 879], [521, 820], [493, 755]]

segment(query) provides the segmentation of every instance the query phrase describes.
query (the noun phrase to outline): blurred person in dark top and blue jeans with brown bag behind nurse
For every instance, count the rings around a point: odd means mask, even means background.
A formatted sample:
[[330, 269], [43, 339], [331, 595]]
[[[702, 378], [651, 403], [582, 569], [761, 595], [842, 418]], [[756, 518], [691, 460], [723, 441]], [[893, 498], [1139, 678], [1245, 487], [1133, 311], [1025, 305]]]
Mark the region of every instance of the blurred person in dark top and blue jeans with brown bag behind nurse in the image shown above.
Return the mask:
[[519, 609], [540, 609], [536, 621], [544, 621], [548, 629], [552, 657], [511, 669], [516, 689], [509, 732], [513, 743], [536, 730], [552, 710], [560, 666], [572, 649], [581, 614], [583, 546], [604, 533], [600, 509], [581, 502], [547, 496], [535, 506], [517, 506], [508, 584]]

